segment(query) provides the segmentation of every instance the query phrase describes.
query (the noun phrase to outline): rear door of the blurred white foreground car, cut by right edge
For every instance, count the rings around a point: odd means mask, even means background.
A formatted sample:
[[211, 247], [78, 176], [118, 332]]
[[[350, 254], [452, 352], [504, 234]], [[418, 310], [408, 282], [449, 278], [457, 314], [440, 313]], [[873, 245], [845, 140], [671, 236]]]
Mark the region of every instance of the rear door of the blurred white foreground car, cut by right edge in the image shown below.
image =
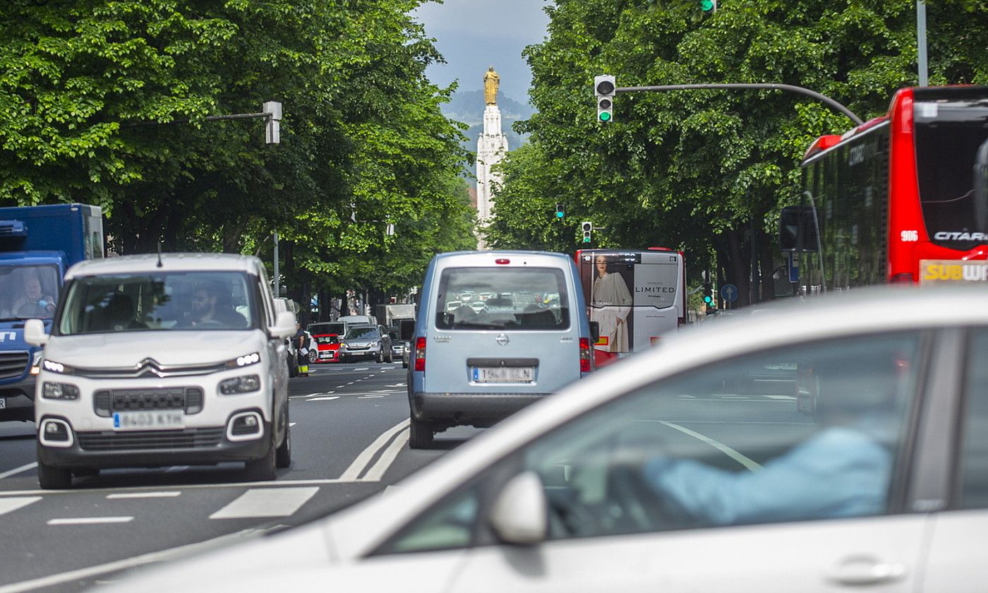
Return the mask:
[[[988, 328], [970, 331], [962, 361], [960, 405], [950, 419], [960, 434], [953, 476], [953, 496], [935, 520], [924, 591], [983, 591], [988, 582], [985, 533], [988, 533]], [[955, 421], [955, 422], [954, 422]], [[946, 465], [949, 466], [949, 465]]]

